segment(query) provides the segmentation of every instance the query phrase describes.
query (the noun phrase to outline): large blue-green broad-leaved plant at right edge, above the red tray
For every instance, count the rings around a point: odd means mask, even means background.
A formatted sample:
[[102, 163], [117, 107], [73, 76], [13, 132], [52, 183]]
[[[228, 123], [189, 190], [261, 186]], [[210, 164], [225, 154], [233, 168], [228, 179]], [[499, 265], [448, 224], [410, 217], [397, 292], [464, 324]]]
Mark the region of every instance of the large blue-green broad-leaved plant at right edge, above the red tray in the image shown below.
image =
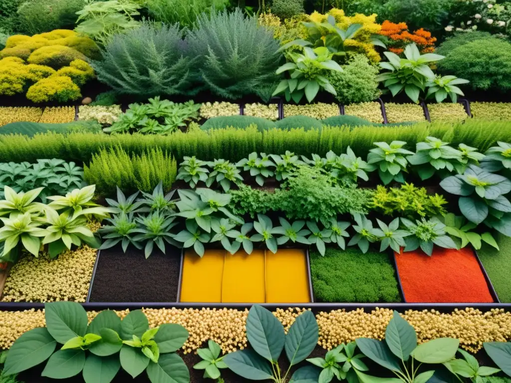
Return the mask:
[[440, 186], [446, 192], [460, 196], [459, 210], [465, 218], [476, 225], [484, 222], [506, 234], [509, 227], [511, 203], [505, 195], [511, 192], [511, 181], [506, 177], [488, 173], [475, 165], [469, 165], [462, 175], [447, 177]]

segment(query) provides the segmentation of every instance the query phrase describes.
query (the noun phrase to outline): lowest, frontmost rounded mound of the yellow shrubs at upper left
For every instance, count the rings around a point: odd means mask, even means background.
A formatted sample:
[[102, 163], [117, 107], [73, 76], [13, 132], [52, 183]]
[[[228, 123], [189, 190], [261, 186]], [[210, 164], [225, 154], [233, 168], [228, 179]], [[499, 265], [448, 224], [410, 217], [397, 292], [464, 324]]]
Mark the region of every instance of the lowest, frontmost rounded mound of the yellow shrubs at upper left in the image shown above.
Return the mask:
[[57, 101], [66, 102], [82, 97], [80, 88], [71, 78], [53, 75], [32, 85], [27, 91], [27, 99], [35, 103]]

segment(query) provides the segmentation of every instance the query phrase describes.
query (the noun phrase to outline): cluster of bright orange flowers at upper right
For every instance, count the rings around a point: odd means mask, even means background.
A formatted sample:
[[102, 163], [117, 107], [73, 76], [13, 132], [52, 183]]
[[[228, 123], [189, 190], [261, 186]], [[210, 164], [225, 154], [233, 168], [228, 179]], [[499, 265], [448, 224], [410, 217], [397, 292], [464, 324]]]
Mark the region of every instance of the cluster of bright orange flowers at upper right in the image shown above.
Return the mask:
[[387, 47], [392, 53], [400, 55], [404, 51], [404, 47], [414, 42], [421, 53], [432, 53], [435, 50], [436, 37], [431, 37], [431, 32], [425, 31], [423, 28], [410, 33], [405, 22], [383, 21], [380, 35], [387, 37]]

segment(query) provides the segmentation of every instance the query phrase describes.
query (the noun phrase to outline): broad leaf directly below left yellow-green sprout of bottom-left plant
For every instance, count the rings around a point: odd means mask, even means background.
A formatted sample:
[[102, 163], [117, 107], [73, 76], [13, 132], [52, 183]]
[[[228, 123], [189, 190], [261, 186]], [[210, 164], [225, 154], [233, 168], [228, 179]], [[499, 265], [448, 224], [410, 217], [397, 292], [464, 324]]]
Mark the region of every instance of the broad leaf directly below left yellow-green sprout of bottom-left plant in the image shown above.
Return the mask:
[[85, 351], [58, 350], [48, 360], [41, 376], [53, 379], [65, 379], [78, 375], [85, 364]]

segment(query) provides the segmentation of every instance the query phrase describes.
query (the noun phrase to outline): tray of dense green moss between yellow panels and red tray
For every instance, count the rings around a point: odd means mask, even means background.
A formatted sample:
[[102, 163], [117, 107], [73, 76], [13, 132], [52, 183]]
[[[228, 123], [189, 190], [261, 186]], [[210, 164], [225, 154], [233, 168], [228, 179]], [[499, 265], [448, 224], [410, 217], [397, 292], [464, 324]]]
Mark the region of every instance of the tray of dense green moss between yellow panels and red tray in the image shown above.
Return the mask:
[[319, 302], [401, 302], [387, 253], [327, 248], [311, 253], [312, 286]]

